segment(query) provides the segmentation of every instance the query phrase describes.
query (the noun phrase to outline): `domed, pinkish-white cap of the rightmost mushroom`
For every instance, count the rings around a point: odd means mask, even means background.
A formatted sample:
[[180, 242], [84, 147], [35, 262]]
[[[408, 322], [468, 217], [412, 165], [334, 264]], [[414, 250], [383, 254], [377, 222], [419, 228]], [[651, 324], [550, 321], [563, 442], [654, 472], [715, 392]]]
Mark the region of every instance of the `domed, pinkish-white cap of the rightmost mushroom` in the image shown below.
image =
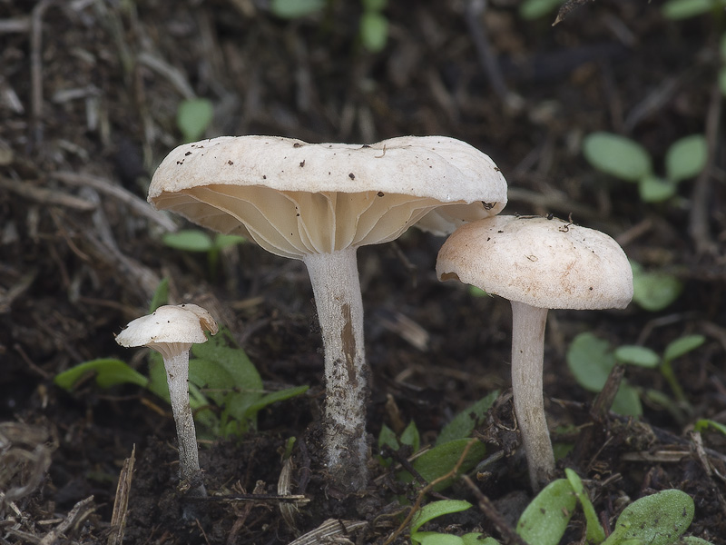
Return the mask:
[[545, 309], [620, 309], [633, 299], [633, 271], [620, 245], [557, 218], [468, 223], [441, 247], [437, 275]]

